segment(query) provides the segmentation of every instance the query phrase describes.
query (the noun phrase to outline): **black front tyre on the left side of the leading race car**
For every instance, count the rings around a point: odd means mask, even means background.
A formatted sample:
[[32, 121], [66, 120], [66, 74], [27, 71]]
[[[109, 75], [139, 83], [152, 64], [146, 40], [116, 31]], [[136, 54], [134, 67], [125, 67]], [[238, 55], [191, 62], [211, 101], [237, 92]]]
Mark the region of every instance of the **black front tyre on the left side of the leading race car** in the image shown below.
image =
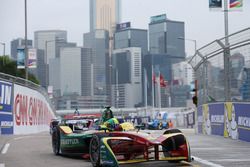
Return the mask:
[[89, 145], [90, 161], [94, 167], [100, 167], [100, 139], [94, 135]]

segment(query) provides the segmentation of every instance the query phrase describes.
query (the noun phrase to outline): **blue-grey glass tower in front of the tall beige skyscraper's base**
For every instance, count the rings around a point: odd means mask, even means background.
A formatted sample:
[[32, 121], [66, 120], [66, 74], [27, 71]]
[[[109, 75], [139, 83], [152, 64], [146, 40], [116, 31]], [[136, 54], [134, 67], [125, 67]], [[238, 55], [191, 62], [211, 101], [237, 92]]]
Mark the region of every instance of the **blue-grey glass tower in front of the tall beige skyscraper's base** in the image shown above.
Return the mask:
[[[109, 62], [109, 33], [95, 30], [84, 34], [84, 47], [91, 48], [93, 68], [93, 95], [106, 95]], [[90, 80], [89, 80], [90, 81]]]

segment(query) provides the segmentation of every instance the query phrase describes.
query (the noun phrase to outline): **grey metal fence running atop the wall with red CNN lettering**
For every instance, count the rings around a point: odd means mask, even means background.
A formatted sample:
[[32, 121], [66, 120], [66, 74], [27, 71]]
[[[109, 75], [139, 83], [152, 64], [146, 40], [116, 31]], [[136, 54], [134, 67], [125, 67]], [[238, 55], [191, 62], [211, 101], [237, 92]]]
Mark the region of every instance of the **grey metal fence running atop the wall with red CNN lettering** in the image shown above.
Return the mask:
[[3, 81], [11, 82], [13, 84], [22, 85], [22, 86], [25, 86], [25, 87], [28, 87], [30, 89], [34, 89], [34, 90], [40, 92], [46, 98], [46, 100], [49, 103], [51, 109], [55, 113], [55, 111], [56, 111], [55, 106], [51, 103], [51, 100], [50, 100], [45, 88], [43, 88], [40, 85], [35, 84], [35, 83], [33, 83], [33, 82], [29, 81], [29, 80], [26, 80], [26, 79], [23, 79], [23, 78], [20, 78], [20, 77], [15, 77], [15, 76], [12, 76], [12, 75], [9, 75], [9, 74], [1, 73], [1, 72], [0, 72], [0, 79], [2, 79]]

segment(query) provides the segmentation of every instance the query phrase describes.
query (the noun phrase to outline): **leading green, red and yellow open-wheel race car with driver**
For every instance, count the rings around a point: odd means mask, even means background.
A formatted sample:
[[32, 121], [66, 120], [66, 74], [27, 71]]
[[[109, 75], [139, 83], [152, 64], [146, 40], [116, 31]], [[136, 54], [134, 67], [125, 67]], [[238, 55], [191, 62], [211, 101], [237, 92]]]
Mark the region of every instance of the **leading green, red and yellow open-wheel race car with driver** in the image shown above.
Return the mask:
[[180, 130], [168, 129], [162, 135], [154, 135], [136, 129], [129, 122], [119, 123], [114, 117], [106, 119], [105, 115], [110, 116], [103, 112], [99, 123], [86, 118], [58, 123], [52, 130], [54, 153], [80, 154], [89, 158], [94, 167], [191, 161], [190, 146]]

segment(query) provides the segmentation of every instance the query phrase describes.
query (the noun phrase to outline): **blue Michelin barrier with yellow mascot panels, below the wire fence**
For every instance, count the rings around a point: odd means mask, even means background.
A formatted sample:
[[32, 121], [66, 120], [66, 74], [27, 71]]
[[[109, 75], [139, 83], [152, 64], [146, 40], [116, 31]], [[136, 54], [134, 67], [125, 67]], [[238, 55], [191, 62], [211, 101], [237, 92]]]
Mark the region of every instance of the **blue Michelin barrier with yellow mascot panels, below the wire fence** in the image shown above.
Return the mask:
[[198, 107], [198, 132], [250, 142], [250, 103], [209, 103]]

